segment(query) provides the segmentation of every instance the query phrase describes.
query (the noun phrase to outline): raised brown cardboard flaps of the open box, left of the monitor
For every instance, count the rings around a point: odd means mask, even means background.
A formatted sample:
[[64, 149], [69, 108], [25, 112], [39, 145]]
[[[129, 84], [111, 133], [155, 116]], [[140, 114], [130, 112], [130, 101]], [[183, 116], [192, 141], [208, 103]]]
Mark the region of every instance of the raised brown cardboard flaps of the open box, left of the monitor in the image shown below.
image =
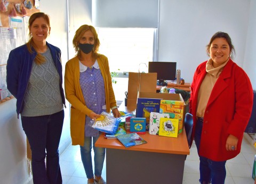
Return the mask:
[[138, 92], [156, 93], [157, 73], [129, 72], [127, 110], [136, 109]]

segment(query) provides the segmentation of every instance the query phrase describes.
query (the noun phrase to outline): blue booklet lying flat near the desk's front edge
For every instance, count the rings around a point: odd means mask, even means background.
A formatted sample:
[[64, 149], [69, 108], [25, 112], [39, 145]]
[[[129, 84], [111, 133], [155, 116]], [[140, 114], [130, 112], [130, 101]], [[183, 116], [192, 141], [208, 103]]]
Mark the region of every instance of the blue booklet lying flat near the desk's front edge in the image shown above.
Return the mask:
[[147, 143], [147, 141], [142, 139], [137, 133], [126, 133], [125, 135], [116, 137], [126, 148]]

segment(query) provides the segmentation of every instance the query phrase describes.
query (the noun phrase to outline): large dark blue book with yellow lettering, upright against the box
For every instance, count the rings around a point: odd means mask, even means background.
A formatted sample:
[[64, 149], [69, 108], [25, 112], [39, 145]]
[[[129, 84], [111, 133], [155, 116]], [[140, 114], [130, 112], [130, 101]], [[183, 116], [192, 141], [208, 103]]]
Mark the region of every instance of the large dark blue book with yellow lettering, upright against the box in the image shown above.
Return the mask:
[[159, 112], [160, 101], [158, 98], [138, 98], [136, 117], [146, 118], [146, 130], [149, 130], [150, 112]]

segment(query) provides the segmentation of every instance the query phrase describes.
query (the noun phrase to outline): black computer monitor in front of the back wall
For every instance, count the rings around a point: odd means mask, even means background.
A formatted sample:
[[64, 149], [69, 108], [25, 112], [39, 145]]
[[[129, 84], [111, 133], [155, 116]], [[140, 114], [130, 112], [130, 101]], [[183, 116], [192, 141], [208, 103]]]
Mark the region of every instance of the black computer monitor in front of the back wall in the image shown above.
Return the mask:
[[175, 80], [176, 62], [148, 62], [148, 73], [157, 73], [157, 85], [161, 85], [164, 80]]

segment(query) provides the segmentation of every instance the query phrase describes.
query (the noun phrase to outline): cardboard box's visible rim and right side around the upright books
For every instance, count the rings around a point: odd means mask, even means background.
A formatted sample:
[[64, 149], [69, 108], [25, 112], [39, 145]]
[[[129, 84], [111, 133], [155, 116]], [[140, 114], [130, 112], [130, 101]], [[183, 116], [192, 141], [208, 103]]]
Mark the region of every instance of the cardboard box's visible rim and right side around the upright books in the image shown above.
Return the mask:
[[140, 97], [140, 98], [161, 98], [161, 99], [169, 99], [172, 101], [183, 102], [184, 103], [183, 112], [182, 112], [183, 114], [182, 114], [182, 121], [179, 122], [179, 133], [181, 133], [183, 131], [186, 105], [185, 105], [185, 102], [184, 102], [181, 94], [139, 92], [138, 97]]

